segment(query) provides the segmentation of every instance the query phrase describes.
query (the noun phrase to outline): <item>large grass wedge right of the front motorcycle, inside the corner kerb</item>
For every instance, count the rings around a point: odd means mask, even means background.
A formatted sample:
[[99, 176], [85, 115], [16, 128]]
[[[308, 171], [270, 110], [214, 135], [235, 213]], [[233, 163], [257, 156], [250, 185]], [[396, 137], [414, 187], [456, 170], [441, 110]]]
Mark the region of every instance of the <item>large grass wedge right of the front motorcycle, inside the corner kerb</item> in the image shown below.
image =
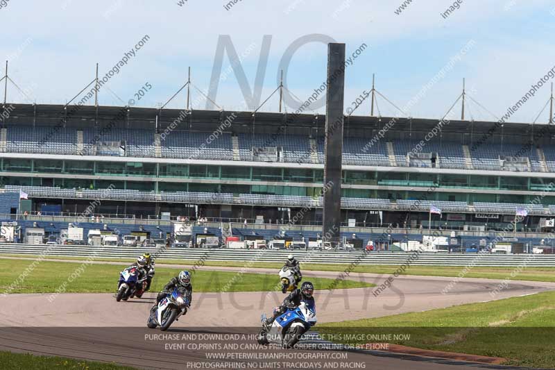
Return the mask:
[[554, 368], [555, 292], [376, 319], [323, 323], [318, 330], [324, 335], [410, 335], [409, 339], [389, 342], [501, 357], [511, 365]]

